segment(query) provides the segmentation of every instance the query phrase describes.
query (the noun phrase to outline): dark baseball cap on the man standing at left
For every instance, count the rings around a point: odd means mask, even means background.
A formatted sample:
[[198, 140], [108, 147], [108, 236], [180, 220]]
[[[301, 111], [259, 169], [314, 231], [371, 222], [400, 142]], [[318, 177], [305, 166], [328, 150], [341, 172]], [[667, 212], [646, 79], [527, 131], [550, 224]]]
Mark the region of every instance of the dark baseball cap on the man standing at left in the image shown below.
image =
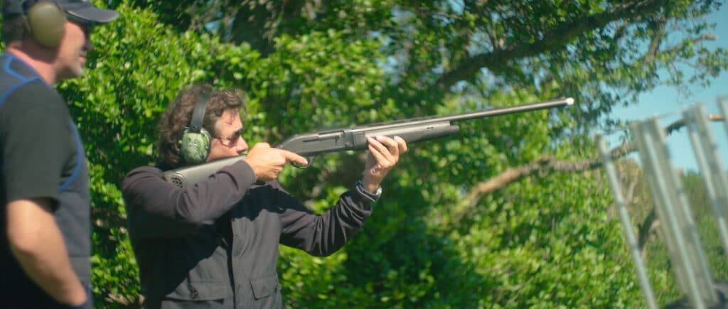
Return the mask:
[[89, 23], [108, 23], [119, 17], [119, 12], [113, 9], [99, 9], [89, 0], [3, 0], [2, 15], [25, 14], [25, 10], [39, 2], [55, 3], [69, 17]]

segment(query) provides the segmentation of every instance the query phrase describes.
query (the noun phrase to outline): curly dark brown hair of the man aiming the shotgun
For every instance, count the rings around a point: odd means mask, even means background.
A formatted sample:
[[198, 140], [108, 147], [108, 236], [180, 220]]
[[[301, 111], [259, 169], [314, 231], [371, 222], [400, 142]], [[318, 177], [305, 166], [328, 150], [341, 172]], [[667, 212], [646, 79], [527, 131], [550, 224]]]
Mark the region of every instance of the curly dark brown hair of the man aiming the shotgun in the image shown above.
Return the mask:
[[225, 111], [245, 109], [245, 94], [240, 90], [213, 90], [208, 84], [193, 85], [180, 92], [173, 103], [167, 107], [162, 119], [159, 119], [159, 138], [157, 154], [159, 164], [167, 169], [175, 169], [183, 164], [179, 140], [189, 126], [197, 100], [202, 92], [210, 93], [207, 100], [202, 127], [215, 136], [215, 122]]

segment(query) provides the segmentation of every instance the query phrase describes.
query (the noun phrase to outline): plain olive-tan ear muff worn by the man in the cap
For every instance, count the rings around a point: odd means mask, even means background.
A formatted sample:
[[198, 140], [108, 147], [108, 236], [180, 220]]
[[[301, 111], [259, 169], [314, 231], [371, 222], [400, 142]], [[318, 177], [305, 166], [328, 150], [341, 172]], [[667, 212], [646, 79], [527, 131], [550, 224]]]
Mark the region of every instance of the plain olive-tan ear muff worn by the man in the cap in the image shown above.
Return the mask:
[[33, 4], [25, 14], [33, 39], [44, 47], [58, 47], [66, 32], [66, 13], [51, 1]]

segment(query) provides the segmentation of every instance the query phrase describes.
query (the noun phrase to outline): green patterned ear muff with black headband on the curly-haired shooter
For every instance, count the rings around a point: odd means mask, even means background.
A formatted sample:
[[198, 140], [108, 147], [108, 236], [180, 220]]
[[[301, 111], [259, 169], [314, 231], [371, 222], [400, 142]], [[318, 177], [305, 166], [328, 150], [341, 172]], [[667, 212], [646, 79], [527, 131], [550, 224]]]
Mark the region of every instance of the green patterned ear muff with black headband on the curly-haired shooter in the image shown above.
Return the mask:
[[197, 100], [197, 105], [192, 112], [192, 120], [189, 127], [184, 129], [180, 140], [180, 152], [182, 159], [186, 164], [200, 164], [207, 160], [210, 154], [210, 142], [212, 137], [202, 127], [202, 120], [205, 117], [205, 109], [207, 108], [207, 100], [210, 100], [210, 92], [205, 90]]

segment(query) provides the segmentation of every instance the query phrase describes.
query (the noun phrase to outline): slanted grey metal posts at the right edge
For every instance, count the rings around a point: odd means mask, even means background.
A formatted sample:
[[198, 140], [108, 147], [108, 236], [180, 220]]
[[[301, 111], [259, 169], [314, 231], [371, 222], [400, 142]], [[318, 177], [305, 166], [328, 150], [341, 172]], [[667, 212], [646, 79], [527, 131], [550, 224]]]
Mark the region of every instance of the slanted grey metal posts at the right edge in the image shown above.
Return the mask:
[[[727, 115], [728, 103], [725, 100], [719, 102], [719, 108], [723, 115]], [[681, 121], [684, 127], [687, 127], [690, 145], [711, 201], [724, 254], [728, 254], [726, 222], [728, 174], [719, 155], [716, 137], [708, 124], [708, 113], [703, 105], [695, 105], [681, 113]], [[725, 120], [725, 117], [724, 125], [728, 132], [728, 120]], [[654, 210], [660, 220], [660, 236], [667, 248], [680, 291], [692, 308], [715, 308], [725, 305], [721, 304], [724, 300], [716, 292], [716, 283], [708, 267], [705, 250], [700, 243], [681, 174], [673, 165], [665, 129], [660, 126], [660, 119], [634, 122], [629, 125], [628, 132], [637, 148], [649, 196], [652, 197]], [[597, 143], [646, 306], [651, 309], [658, 308], [646, 263], [641, 256], [641, 247], [635, 236], [632, 218], [628, 212], [628, 201], [625, 201], [620, 175], [615, 168], [615, 158], [612, 157], [612, 152], [609, 151], [603, 136], [597, 137]]]

